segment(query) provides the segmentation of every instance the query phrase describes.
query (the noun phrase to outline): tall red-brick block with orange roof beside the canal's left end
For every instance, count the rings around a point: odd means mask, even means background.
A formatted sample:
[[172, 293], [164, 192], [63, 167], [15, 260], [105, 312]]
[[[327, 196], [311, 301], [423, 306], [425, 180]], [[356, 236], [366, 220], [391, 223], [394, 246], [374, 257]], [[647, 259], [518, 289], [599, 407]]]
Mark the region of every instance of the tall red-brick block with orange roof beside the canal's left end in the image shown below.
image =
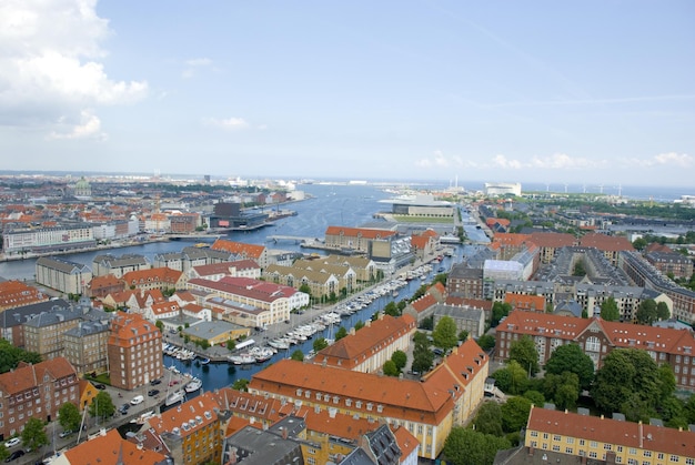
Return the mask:
[[111, 385], [127, 391], [164, 375], [162, 333], [138, 314], [119, 313], [108, 341]]

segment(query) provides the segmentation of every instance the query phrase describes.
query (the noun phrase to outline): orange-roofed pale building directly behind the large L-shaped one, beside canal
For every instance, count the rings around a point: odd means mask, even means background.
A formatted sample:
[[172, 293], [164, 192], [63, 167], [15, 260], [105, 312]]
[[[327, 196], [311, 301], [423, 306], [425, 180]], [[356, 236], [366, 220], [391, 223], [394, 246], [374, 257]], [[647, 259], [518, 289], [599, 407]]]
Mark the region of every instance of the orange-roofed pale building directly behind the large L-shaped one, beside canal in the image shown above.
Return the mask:
[[416, 328], [415, 319], [411, 315], [393, 317], [380, 313], [376, 321], [367, 320], [360, 331], [350, 330], [349, 335], [316, 353], [313, 362], [355, 372], [377, 373], [395, 351], [407, 352]]

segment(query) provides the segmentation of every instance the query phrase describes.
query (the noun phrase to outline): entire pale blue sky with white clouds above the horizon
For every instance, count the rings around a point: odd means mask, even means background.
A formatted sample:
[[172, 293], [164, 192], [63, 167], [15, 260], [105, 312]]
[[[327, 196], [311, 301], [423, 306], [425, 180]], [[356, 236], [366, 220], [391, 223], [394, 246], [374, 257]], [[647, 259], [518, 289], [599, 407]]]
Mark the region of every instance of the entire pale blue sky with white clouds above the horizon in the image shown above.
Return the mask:
[[695, 2], [2, 0], [0, 160], [695, 190]]

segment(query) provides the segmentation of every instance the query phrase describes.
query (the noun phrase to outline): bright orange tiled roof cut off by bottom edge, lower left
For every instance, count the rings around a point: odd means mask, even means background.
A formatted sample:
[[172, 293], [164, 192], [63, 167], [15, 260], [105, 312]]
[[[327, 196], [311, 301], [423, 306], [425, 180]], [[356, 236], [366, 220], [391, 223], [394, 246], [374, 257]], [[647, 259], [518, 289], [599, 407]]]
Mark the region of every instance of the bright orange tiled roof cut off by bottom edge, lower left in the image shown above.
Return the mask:
[[159, 452], [138, 447], [115, 429], [97, 436], [64, 453], [70, 465], [155, 465], [167, 463]]

